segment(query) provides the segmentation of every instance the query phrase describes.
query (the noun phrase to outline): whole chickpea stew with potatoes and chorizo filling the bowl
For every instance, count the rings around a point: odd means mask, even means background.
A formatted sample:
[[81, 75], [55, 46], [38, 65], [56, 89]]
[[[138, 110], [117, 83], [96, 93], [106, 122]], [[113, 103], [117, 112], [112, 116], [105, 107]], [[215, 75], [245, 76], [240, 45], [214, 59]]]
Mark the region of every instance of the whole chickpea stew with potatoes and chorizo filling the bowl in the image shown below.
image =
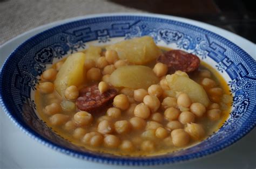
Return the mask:
[[90, 46], [41, 75], [39, 117], [73, 144], [129, 156], [170, 153], [218, 130], [227, 83], [196, 55], [150, 37]]

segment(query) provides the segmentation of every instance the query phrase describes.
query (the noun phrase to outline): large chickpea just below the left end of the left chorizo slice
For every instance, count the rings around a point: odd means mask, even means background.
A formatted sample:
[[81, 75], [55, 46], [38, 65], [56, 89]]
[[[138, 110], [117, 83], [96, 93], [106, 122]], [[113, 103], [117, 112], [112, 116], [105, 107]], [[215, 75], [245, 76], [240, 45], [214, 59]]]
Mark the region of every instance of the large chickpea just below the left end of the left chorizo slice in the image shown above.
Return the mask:
[[92, 122], [93, 117], [89, 112], [86, 111], [78, 111], [74, 115], [74, 120], [76, 124], [83, 126], [83, 125], [88, 125]]

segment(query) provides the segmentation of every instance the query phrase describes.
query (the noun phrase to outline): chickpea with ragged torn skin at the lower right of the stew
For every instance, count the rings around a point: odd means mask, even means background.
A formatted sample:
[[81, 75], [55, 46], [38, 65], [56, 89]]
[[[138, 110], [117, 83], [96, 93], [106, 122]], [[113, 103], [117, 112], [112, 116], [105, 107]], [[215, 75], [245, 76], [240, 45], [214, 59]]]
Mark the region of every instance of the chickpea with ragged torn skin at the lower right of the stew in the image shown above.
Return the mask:
[[194, 140], [199, 140], [205, 136], [205, 130], [200, 124], [188, 123], [184, 129]]

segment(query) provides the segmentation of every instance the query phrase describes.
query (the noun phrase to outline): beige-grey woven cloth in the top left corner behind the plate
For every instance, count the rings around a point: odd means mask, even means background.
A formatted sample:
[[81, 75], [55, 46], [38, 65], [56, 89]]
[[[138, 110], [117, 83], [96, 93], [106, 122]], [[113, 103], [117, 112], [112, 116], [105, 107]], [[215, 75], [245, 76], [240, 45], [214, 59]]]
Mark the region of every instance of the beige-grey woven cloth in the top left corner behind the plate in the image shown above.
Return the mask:
[[106, 0], [0, 0], [0, 45], [34, 27], [106, 12], [141, 12]]

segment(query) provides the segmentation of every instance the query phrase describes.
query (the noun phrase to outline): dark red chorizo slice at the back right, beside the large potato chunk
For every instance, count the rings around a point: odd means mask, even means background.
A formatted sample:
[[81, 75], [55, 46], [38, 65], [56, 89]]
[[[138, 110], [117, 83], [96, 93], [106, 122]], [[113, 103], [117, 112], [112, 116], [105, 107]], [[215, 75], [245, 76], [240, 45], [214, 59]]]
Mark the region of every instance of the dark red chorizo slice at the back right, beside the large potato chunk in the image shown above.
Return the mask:
[[190, 73], [196, 71], [200, 65], [200, 59], [196, 55], [181, 50], [167, 51], [157, 61], [166, 64], [170, 74], [175, 71]]

